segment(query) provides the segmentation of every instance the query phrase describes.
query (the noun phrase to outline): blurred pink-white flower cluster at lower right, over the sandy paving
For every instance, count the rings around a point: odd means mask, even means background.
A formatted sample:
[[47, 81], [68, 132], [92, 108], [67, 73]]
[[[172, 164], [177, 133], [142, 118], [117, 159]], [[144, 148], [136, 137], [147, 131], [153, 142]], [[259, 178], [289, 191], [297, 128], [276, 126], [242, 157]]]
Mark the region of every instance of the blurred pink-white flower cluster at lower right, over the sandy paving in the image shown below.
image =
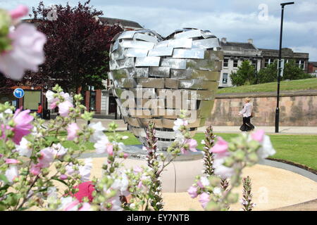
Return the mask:
[[[192, 198], [199, 197], [205, 210], [228, 210], [231, 203], [237, 203], [238, 194], [232, 193], [232, 188], [240, 185], [242, 169], [275, 153], [263, 130], [241, 134], [230, 143], [218, 137], [209, 151], [214, 154], [214, 174], [197, 176], [195, 184], [188, 189]], [[223, 179], [230, 179], [230, 186], [225, 184], [224, 188]]]

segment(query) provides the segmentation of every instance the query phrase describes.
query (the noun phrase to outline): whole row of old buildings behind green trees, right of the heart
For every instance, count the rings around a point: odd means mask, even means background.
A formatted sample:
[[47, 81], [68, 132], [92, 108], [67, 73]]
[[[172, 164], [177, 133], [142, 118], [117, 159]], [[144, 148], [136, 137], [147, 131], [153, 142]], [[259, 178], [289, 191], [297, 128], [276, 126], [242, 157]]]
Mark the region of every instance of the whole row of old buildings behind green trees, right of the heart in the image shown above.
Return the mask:
[[[247, 42], [231, 42], [223, 37], [220, 41], [223, 49], [223, 70], [221, 71], [219, 87], [232, 86], [230, 74], [236, 72], [244, 60], [249, 60], [256, 71], [266, 68], [268, 65], [278, 60], [279, 51], [276, 49], [258, 49], [253, 44], [252, 39]], [[294, 60], [295, 63], [305, 72], [309, 72], [309, 53], [295, 53], [292, 49], [283, 48], [282, 58], [285, 63]]]

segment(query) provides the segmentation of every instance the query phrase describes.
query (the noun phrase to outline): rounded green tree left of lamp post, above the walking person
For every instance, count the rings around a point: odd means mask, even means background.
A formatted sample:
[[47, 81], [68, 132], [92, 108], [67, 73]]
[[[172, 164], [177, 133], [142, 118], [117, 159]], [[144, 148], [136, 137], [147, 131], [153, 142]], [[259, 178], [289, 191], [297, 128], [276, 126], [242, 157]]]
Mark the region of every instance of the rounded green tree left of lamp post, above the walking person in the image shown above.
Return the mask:
[[231, 72], [231, 82], [234, 86], [242, 86], [245, 84], [256, 84], [256, 71], [249, 60], [242, 62], [237, 72]]

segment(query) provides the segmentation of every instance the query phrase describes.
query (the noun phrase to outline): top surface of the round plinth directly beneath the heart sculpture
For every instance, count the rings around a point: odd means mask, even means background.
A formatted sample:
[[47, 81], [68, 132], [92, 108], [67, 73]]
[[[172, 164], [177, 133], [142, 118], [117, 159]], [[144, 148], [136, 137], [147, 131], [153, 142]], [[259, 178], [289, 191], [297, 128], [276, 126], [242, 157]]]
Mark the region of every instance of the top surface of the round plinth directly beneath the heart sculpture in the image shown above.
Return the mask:
[[[147, 157], [147, 152], [142, 149], [142, 145], [135, 146], [124, 146], [123, 151], [129, 154], [128, 158], [145, 160]], [[166, 151], [158, 150], [157, 153], [163, 153], [166, 155], [167, 159], [170, 155]], [[188, 151], [188, 153], [178, 155], [174, 161], [190, 161], [190, 160], [200, 160], [203, 158], [203, 153], [201, 150], [197, 149], [197, 152]]]

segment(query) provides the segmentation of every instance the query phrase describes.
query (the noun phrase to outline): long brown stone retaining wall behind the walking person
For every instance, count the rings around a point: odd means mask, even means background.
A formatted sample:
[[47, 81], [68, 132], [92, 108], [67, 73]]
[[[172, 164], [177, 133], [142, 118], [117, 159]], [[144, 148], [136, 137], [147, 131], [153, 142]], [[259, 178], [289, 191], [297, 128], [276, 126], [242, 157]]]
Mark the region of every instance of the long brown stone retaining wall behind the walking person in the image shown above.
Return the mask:
[[[244, 98], [250, 97], [254, 105], [255, 126], [274, 126], [276, 92], [218, 94], [208, 124], [214, 126], [240, 126]], [[280, 126], [317, 127], [317, 91], [282, 91], [280, 93]]]

